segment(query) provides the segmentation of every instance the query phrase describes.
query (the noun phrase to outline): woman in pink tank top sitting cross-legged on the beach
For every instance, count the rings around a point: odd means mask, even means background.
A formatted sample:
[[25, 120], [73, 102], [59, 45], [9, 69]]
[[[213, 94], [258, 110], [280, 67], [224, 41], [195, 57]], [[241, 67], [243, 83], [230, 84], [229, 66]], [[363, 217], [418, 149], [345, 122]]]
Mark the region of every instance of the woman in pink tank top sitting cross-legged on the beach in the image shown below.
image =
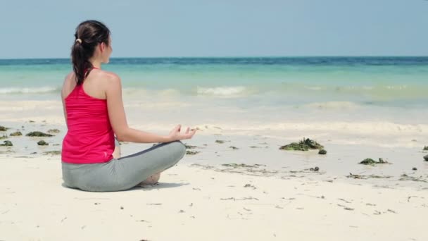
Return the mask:
[[[63, 180], [68, 187], [92, 192], [127, 190], [156, 183], [161, 171], [180, 161], [186, 152], [177, 125], [168, 136], [135, 130], [127, 125], [122, 86], [115, 73], [101, 70], [112, 52], [110, 30], [95, 20], [76, 28], [71, 50], [73, 72], [65, 78], [61, 99], [68, 132], [61, 154]], [[120, 158], [118, 140], [161, 144]]]

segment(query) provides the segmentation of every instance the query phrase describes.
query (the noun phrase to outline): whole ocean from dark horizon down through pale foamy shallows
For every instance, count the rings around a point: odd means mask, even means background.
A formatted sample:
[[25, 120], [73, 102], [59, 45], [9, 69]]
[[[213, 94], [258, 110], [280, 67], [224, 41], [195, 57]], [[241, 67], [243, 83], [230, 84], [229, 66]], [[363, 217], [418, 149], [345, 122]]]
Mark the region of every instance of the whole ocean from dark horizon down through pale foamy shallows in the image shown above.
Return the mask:
[[[173, 99], [278, 122], [428, 118], [428, 57], [111, 58], [102, 68], [120, 76], [126, 104]], [[0, 101], [59, 100], [71, 69], [66, 58], [0, 60]]]

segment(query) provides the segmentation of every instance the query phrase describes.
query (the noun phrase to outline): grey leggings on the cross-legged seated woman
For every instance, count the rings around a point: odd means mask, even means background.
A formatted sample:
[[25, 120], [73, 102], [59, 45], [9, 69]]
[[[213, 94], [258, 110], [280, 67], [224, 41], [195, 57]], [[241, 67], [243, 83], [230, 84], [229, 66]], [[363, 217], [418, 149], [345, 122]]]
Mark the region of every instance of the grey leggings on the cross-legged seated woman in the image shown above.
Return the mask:
[[169, 142], [112, 159], [106, 163], [62, 162], [63, 180], [68, 187], [90, 192], [114, 192], [135, 187], [150, 175], [174, 166], [186, 154], [182, 142]]

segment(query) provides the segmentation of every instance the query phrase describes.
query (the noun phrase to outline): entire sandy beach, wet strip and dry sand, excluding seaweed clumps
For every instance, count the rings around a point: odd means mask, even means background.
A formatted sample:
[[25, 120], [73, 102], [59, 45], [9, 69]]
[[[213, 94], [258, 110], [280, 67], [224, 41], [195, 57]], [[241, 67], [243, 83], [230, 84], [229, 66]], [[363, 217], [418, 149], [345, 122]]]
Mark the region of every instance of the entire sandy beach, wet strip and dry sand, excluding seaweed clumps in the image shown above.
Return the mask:
[[[1, 101], [0, 125], [10, 129], [0, 136], [13, 147], [0, 147], [0, 240], [428, 239], [422, 122], [215, 123], [215, 110], [189, 118], [191, 102], [154, 104], [163, 107], [128, 101], [130, 125], [168, 132], [166, 115], [177, 113], [180, 123], [199, 128], [189, 154], [158, 185], [94, 193], [63, 187], [61, 158], [46, 153], [61, 151], [60, 101]], [[221, 111], [239, 113], [230, 108]], [[59, 132], [25, 136], [51, 129]], [[10, 136], [15, 131], [23, 136]], [[279, 149], [303, 137], [323, 144], [327, 155]], [[122, 155], [150, 146], [122, 143]], [[358, 164], [368, 157], [389, 163]]]

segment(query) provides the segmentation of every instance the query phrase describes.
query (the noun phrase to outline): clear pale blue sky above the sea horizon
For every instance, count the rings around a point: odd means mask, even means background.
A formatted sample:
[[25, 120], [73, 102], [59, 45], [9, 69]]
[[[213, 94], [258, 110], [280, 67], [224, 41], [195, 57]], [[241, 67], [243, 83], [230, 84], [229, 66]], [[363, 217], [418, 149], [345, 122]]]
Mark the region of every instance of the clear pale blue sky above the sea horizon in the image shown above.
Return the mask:
[[426, 0], [2, 1], [0, 58], [68, 58], [75, 27], [113, 57], [428, 56]]

